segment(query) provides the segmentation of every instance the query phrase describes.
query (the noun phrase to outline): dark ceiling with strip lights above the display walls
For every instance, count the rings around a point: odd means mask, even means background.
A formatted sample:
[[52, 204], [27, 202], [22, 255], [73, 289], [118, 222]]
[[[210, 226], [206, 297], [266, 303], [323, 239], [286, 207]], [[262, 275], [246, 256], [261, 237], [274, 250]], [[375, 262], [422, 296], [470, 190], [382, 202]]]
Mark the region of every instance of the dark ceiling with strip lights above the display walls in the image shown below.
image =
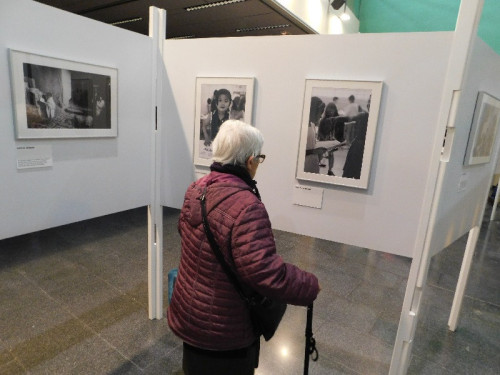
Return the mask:
[[[315, 33], [273, 0], [37, 0], [71, 13], [148, 34], [149, 7], [167, 11], [166, 37], [211, 38]], [[213, 3], [201, 10], [186, 8]], [[133, 20], [131, 22], [123, 22]], [[123, 22], [123, 23], [120, 23]]]

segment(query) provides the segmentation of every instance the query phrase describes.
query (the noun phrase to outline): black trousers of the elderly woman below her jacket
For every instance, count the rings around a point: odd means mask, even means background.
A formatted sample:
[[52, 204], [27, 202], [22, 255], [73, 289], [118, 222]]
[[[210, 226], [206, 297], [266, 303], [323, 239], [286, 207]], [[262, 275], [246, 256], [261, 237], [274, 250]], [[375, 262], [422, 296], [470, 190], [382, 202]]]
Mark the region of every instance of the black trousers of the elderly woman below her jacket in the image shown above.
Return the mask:
[[259, 365], [260, 340], [247, 348], [214, 351], [184, 343], [182, 369], [185, 375], [253, 375]]

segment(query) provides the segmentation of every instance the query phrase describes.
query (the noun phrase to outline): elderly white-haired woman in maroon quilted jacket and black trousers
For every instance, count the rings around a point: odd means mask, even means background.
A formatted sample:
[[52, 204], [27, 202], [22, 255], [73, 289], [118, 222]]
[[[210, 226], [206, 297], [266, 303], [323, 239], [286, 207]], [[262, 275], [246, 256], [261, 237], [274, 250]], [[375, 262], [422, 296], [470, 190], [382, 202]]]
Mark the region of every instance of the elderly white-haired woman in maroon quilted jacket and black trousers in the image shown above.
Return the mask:
[[253, 180], [263, 138], [237, 120], [221, 125], [213, 142], [211, 173], [187, 189], [179, 219], [182, 254], [168, 309], [172, 331], [184, 341], [183, 370], [196, 374], [254, 374], [259, 333], [206, 238], [208, 224], [241, 284], [263, 296], [306, 306], [319, 293], [318, 279], [276, 254], [271, 222]]

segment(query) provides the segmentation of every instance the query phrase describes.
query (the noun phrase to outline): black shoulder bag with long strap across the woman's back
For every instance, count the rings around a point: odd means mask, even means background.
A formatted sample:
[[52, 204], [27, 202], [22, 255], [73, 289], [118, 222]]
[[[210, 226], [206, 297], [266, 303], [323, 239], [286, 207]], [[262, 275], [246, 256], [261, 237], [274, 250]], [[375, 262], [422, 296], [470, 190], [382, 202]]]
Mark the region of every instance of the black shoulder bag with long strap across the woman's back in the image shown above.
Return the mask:
[[229, 268], [229, 265], [224, 260], [224, 256], [220, 251], [217, 242], [215, 242], [214, 235], [210, 230], [207, 220], [207, 209], [205, 206], [205, 194], [206, 189], [200, 197], [201, 202], [201, 213], [203, 215], [203, 228], [205, 229], [205, 234], [207, 235], [208, 242], [210, 243], [210, 247], [212, 248], [215, 256], [217, 257], [219, 263], [222, 266], [222, 269], [227, 274], [229, 280], [233, 283], [236, 291], [240, 295], [240, 297], [245, 301], [249, 311], [250, 311], [250, 319], [252, 320], [252, 324], [254, 329], [264, 336], [266, 341], [269, 341], [271, 337], [273, 337], [278, 325], [281, 322], [281, 318], [285, 314], [287, 304], [284, 302], [276, 301], [264, 296], [261, 296], [255, 293], [252, 296], [247, 296], [243, 292], [238, 279], [234, 272]]

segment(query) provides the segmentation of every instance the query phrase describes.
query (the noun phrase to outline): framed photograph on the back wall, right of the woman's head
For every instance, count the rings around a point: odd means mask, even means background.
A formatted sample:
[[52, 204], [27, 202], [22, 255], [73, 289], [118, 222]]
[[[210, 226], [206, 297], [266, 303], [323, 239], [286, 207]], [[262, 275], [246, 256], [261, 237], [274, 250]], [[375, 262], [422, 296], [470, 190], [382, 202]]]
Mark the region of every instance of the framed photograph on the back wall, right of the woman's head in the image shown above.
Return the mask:
[[297, 179], [368, 187], [382, 85], [306, 80]]

